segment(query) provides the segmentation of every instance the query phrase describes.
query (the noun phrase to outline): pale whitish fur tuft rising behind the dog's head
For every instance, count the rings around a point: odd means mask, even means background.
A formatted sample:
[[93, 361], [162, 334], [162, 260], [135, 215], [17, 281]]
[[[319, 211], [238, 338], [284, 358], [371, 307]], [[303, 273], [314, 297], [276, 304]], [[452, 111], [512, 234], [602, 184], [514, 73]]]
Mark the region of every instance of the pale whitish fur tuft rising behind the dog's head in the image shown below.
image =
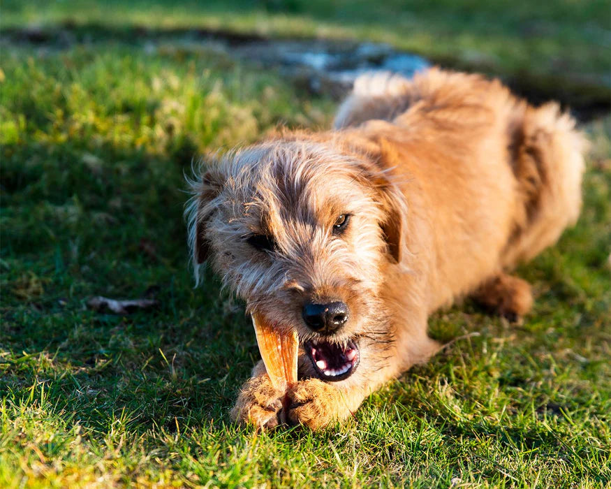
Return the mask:
[[402, 75], [373, 72], [360, 75], [337, 110], [335, 129], [358, 126], [370, 119], [392, 121], [411, 105], [412, 83]]

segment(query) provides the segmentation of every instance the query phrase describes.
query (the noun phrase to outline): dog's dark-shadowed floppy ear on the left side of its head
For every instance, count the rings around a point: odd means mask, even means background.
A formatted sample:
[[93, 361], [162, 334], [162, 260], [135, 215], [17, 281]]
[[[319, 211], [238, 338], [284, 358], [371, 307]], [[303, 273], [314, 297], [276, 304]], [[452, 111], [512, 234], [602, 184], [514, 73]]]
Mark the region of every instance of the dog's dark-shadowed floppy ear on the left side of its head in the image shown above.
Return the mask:
[[222, 175], [214, 170], [209, 170], [196, 184], [197, 210], [193, 219], [195, 236], [193, 237], [193, 258], [198, 265], [204, 263], [210, 254], [210, 245], [206, 239], [206, 223], [210, 217], [210, 206], [216, 196], [223, 189]]

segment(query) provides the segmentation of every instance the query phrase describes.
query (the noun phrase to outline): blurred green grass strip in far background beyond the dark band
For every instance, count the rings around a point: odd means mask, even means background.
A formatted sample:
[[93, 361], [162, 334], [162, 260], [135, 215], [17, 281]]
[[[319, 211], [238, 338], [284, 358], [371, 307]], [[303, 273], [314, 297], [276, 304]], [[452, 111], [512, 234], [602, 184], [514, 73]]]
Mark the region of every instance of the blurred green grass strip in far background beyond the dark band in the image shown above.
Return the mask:
[[533, 98], [547, 94], [598, 112], [610, 106], [610, 22], [606, 0], [554, 0], [536, 8], [529, 0], [4, 0], [0, 16], [8, 33], [59, 26], [54, 41], [158, 39], [201, 29], [367, 39], [501, 76]]

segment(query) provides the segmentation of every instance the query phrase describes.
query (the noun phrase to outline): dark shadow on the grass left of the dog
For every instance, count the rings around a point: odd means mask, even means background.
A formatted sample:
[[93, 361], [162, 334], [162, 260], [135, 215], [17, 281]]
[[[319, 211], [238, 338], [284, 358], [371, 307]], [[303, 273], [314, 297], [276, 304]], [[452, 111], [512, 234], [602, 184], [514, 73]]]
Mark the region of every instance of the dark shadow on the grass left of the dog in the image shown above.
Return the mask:
[[[92, 170], [74, 143], [2, 148], [0, 391], [9, 399], [27, 404], [43, 390], [54, 411], [98, 427], [122, 411], [139, 430], [227, 421], [257, 350], [243, 309], [219, 298], [211, 273], [193, 289], [182, 218], [190, 163], [175, 160], [183, 149], [168, 161], [105, 146]], [[147, 291], [158, 308], [86, 307], [91, 295]]]

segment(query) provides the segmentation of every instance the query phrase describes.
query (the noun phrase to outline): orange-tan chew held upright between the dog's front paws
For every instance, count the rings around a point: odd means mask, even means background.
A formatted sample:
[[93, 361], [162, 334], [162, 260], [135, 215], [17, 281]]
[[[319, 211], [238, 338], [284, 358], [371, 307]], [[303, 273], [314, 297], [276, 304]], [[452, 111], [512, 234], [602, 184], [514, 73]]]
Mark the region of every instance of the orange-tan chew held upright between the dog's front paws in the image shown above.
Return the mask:
[[253, 314], [257, 344], [267, 375], [280, 391], [297, 383], [297, 333], [286, 333], [274, 328], [260, 314]]

